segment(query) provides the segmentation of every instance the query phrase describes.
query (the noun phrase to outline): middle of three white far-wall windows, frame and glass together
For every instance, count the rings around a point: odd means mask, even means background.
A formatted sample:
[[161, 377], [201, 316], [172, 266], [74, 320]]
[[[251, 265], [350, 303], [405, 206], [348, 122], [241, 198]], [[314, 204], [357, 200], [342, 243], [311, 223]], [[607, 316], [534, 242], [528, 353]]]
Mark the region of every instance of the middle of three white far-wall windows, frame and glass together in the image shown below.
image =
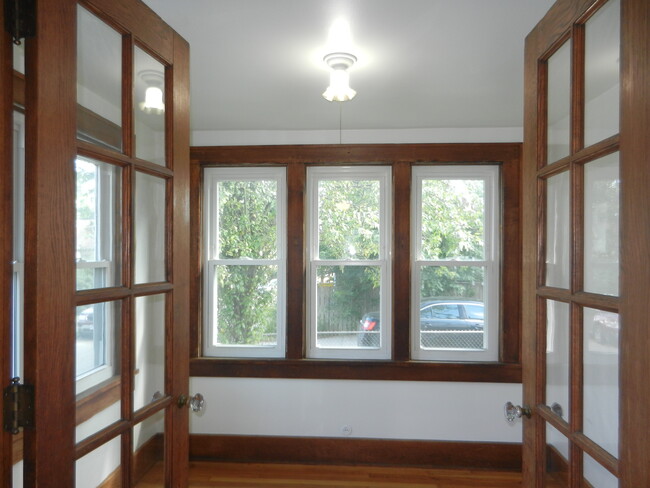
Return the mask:
[[310, 358], [390, 358], [390, 181], [385, 166], [307, 169]]

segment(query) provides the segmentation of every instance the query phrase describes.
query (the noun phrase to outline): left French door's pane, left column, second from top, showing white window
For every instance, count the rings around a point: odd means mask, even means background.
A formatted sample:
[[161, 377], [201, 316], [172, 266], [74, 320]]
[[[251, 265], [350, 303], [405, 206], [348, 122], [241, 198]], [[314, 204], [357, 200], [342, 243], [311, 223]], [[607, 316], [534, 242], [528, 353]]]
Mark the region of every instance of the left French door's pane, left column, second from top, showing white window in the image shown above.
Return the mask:
[[77, 289], [121, 284], [121, 178], [117, 166], [78, 157]]

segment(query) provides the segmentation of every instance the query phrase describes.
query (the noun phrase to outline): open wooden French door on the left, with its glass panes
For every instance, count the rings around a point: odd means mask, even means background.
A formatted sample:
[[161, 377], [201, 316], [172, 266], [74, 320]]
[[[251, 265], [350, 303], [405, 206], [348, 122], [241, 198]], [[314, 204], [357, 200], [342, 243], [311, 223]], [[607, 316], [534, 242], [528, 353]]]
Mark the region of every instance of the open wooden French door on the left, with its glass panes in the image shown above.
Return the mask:
[[3, 486], [184, 486], [189, 48], [138, 0], [35, 16], [0, 58], [2, 380], [34, 387]]

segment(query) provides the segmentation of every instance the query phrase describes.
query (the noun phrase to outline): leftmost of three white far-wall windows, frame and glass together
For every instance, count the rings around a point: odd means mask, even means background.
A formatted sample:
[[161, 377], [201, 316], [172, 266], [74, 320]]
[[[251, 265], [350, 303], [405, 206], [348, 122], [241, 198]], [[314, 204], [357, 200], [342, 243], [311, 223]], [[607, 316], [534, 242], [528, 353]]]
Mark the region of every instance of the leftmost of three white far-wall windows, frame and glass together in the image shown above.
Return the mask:
[[204, 172], [204, 354], [284, 357], [285, 168]]

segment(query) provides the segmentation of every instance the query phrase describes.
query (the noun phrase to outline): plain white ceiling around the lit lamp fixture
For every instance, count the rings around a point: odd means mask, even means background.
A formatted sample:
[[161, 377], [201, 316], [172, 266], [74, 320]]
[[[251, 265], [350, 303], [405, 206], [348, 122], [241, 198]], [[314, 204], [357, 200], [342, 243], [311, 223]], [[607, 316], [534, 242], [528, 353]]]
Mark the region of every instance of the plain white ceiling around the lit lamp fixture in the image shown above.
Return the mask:
[[[554, 0], [145, 0], [190, 43], [194, 131], [521, 127], [524, 38]], [[357, 97], [327, 102], [339, 18]]]

